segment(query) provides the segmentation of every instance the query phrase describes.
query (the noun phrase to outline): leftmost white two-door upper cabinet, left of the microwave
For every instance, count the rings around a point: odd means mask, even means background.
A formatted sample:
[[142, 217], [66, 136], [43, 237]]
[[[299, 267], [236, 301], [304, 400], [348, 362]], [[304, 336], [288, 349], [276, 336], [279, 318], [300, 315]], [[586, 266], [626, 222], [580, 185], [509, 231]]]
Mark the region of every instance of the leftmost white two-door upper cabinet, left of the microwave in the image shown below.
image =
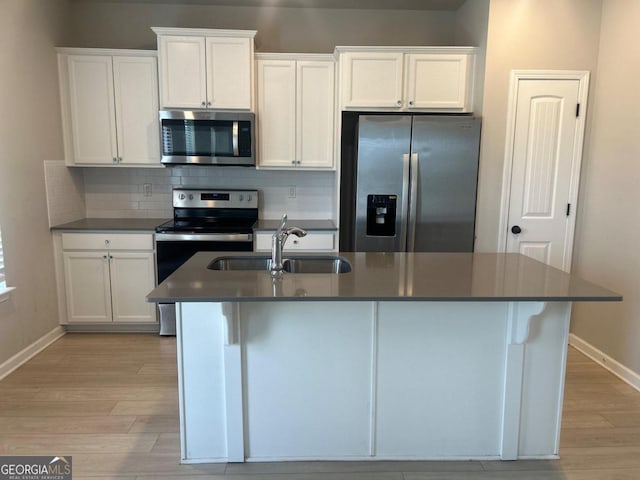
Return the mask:
[[155, 52], [59, 49], [68, 165], [160, 165]]

